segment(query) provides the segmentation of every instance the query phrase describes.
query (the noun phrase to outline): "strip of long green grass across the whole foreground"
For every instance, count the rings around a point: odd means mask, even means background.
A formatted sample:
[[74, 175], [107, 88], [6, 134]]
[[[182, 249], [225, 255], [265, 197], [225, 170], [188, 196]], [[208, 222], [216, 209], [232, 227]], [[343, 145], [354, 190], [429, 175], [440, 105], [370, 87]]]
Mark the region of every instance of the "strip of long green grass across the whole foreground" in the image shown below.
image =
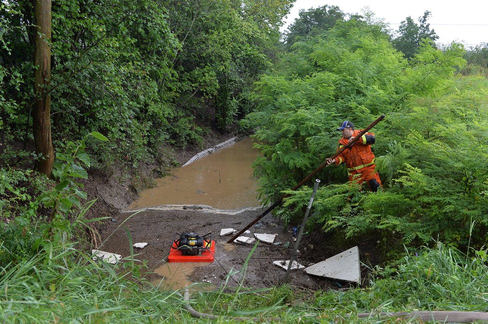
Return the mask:
[[[312, 292], [288, 285], [269, 289], [226, 288], [197, 292], [191, 305], [221, 316], [191, 318], [179, 292], [159, 291], [135, 262], [117, 266], [93, 262], [73, 245], [52, 247], [0, 268], [2, 323], [237, 323], [232, 316], [281, 318], [281, 323], [359, 322], [355, 314], [396, 311], [488, 311], [486, 251], [474, 258], [439, 244], [419, 256], [405, 256], [395, 268], [380, 269], [369, 287]], [[244, 264], [245, 268], [245, 264]], [[244, 271], [234, 273], [244, 275]], [[254, 323], [248, 320], [244, 323]], [[394, 319], [386, 323], [393, 323]], [[378, 323], [363, 319], [361, 323]], [[384, 321], [382, 321], [384, 323]]]

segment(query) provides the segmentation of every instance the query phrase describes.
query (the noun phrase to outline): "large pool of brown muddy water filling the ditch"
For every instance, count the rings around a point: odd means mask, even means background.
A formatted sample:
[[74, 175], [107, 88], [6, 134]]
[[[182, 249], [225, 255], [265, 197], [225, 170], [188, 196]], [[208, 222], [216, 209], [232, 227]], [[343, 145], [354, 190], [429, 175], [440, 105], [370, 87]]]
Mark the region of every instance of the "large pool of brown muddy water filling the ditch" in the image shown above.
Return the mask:
[[164, 205], [205, 205], [217, 209], [260, 206], [251, 164], [258, 150], [246, 139], [158, 179], [129, 209]]

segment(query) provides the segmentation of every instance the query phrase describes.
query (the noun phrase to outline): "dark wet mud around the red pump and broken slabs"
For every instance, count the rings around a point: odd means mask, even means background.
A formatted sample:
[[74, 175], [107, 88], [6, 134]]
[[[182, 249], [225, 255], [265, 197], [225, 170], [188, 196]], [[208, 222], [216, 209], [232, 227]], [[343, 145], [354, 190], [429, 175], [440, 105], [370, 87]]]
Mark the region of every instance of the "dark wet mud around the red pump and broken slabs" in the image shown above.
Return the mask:
[[[184, 209], [188, 208], [188, 209]], [[212, 209], [192, 209], [194, 207], [166, 207], [162, 209], [144, 209], [132, 215], [133, 212], [120, 213], [116, 222], [108, 225], [104, 237], [105, 243], [100, 247], [103, 251], [121, 254], [123, 257], [130, 256], [129, 237], [126, 229], [131, 235], [132, 242], [147, 242], [143, 249], [134, 249], [136, 259], [147, 260], [149, 269], [146, 279], [152, 282], [161, 281], [162, 276], [156, 271], [163, 269], [169, 255], [170, 246], [173, 242], [174, 233], [197, 232], [204, 235], [212, 232], [212, 239], [216, 242], [215, 261], [213, 263], [193, 264], [193, 268], [186, 267], [184, 270], [187, 276], [180, 276], [180, 284], [171, 282], [169, 288], [183, 288], [188, 282], [209, 283], [216, 287], [222, 285], [232, 270], [243, 270], [246, 258], [249, 256], [252, 246], [228, 244], [232, 237], [221, 237], [222, 228], [234, 228], [241, 230], [249, 224], [262, 209], [243, 211], [221, 211]], [[259, 225], [258, 225], [259, 224]], [[282, 283], [285, 270], [272, 264], [276, 260], [289, 260], [292, 254], [292, 233], [289, 227], [272, 217], [264, 216], [256, 225], [249, 228], [250, 234], [243, 234], [253, 237], [253, 233], [277, 234], [275, 242], [281, 244], [274, 246], [259, 242], [255, 252], [245, 268], [244, 287], [265, 288]], [[289, 247], [284, 248], [289, 242]], [[349, 246], [350, 245], [350, 246]], [[375, 254], [376, 243], [372, 240], [364, 242], [350, 242], [340, 248], [331, 247], [327, 239], [320, 235], [304, 235], [299, 248], [298, 262], [304, 266], [325, 260], [350, 247], [359, 245], [360, 260], [368, 262]], [[374, 262], [374, 261], [373, 261]], [[193, 271], [192, 271], [193, 270]], [[158, 271], [160, 272], [160, 271]], [[361, 266], [363, 279], [367, 282], [368, 269]], [[228, 286], [235, 287], [240, 281], [240, 274], [231, 276], [228, 279]], [[163, 281], [164, 282], [164, 281]], [[347, 283], [340, 283], [319, 277], [312, 277], [302, 270], [292, 271], [288, 284], [299, 289], [327, 290], [348, 287]], [[165, 287], [163, 284], [162, 287]], [[167, 287], [167, 286], [166, 286]]]

